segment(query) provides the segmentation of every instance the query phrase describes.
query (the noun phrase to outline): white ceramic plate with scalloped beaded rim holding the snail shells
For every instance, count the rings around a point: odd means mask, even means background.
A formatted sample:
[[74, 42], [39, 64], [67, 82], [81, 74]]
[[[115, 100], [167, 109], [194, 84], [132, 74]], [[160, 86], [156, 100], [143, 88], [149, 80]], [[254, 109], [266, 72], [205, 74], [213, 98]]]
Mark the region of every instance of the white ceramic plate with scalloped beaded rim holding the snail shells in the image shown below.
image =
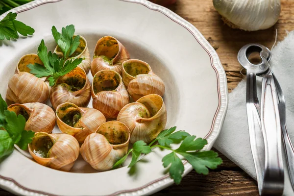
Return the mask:
[[[227, 109], [226, 75], [216, 51], [193, 25], [146, 0], [36, 0], [12, 11], [18, 12], [17, 19], [32, 26], [35, 33], [29, 38], [0, 42], [2, 96], [19, 58], [36, 53], [41, 39], [53, 50], [52, 25], [61, 29], [73, 24], [76, 34], [86, 38], [91, 55], [98, 39], [111, 35], [123, 43], [131, 58], [146, 61], [166, 85], [166, 127], [176, 125], [191, 135], [205, 137], [206, 150], [213, 146]], [[165, 154], [165, 150], [154, 150], [130, 175], [127, 167], [86, 171], [87, 164], [76, 164], [73, 172], [60, 172], [14, 150], [0, 164], [0, 185], [30, 196], [151, 194], [173, 183], [161, 163]], [[185, 162], [184, 175], [191, 170]]]

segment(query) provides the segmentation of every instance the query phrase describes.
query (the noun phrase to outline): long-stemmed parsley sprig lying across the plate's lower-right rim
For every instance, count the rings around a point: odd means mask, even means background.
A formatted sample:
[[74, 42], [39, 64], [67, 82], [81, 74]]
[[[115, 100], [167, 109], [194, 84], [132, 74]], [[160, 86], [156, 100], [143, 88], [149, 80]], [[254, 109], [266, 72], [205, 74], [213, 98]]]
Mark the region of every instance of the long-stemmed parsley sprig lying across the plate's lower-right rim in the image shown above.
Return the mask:
[[[184, 165], [178, 155], [183, 156], [197, 173], [204, 175], [208, 174], [208, 169], [216, 169], [222, 163], [217, 152], [212, 150], [199, 151], [207, 144], [205, 139], [196, 139], [196, 136], [191, 136], [185, 131], [174, 132], [175, 129], [176, 127], [172, 127], [163, 130], [149, 145], [143, 141], [135, 142], [133, 148], [129, 149], [127, 154], [115, 163], [113, 169], [120, 167], [130, 153], [132, 153], [132, 160], [128, 167], [133, 167], [139, 161], [142, 153], [148, 154], [155, 147], [172, 151], [163, 157], [162, 162], [164, 168], [169, 167], [169, 173], [176, 184], [181, 182], [184, 172]], [[153, 145], [155, 142], [158, 142], [159, 145]], [[179, 143], [181, 143], [180, 147], [172, 149], [171, 144]]]

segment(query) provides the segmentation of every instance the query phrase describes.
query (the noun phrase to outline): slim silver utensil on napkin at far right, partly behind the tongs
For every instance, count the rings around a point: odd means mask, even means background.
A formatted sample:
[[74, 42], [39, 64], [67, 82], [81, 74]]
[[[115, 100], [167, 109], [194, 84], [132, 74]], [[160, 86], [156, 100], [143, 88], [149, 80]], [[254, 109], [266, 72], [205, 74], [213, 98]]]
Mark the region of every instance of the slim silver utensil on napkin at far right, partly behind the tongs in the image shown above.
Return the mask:
[[287, 165], [290, 175], [290, 180], [292, 184], [292, 188], [294, 189], [294, 148], [291, 143], [290, 137], [288, 135], [287, 126], [286, 126], [286, 104], [285, 104], [285, 97], [283, 95], [282, 88], [276, 78], [276, 76], [271, 72], [273, 76], [273, 80], [276, 86], [277, 90], [277, 96], [278, 96], [278, 108], [279, 108], [279, 114], [280, 114], [280, 122], [281, 122], [281, 129], [282, 129], [282, 136], [284, 141], [284, 147], [286, 151], [286, 157], [287, 157]]

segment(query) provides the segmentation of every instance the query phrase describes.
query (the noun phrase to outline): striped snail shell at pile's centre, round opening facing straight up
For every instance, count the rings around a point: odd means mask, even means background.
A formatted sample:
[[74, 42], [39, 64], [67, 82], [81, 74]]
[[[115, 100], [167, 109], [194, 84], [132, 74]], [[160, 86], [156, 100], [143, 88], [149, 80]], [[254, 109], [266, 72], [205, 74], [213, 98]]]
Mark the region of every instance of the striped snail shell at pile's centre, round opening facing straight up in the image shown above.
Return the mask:
[[92, 83], [93, 108], [106, 118], [116, 118], [126, 104], [129, 95], [122, 76], [113, 70], [103, 70], [95, 74]]

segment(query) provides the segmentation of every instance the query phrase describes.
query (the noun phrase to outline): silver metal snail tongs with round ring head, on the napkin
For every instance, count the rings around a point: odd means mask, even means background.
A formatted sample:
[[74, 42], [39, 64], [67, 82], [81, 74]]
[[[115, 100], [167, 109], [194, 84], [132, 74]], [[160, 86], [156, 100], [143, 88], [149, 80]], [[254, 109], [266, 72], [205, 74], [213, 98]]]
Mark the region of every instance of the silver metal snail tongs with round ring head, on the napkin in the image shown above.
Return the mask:
[[[262, 59], [258, 65], [248, 59], [256, 51]], [[238, 53], [240, 64], [247, 70], [247, 120], [259, 195], [280, 196], [284, 189], [281, 123], [274, 79], [270, 75], [270, 57], [270, 50], [259, 44], [245, 45]], [[257, 97], [256, 75], [262, 77], [261, 104]]]

